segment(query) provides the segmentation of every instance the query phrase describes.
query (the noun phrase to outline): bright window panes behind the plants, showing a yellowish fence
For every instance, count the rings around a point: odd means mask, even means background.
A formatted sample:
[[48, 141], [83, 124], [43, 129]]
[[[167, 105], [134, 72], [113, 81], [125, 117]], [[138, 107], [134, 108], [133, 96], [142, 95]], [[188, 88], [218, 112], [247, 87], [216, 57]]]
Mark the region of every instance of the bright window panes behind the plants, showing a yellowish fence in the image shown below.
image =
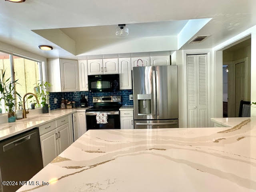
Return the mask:
[[[10, 80], [18, 80], [16, 91], [20, 96], [24, 96], [24, 94], [28, 92], [34, 93], [36, 83], [42, 81], [41, 62], [0, 52], [0, 76], [2, 76], [5, 70], [6, 79], [12, 77]], [[38, 98], [38, 100], [39, 99], [40, 98]], [[34, 97], [26, 101], [26, 109], [30, 108], [30, 102], [33, 101], [36, 103]], [[16, 108], [18, 108], [18, 102], [20, 102], [20, 98], [16, 95]], [[0, 102], [0, 105], [0, 112], [2, 110], [2, 112], [5, 113], [6, 107], [3, 100]]]

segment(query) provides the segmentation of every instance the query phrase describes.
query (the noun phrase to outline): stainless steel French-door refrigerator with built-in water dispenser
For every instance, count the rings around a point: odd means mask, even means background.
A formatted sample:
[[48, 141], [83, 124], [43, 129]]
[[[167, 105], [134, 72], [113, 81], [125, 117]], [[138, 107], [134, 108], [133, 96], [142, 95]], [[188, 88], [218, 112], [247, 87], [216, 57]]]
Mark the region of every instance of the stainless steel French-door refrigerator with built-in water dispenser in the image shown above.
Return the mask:
[[178, 128], [178, 68], [133, 68], [135, 128]]

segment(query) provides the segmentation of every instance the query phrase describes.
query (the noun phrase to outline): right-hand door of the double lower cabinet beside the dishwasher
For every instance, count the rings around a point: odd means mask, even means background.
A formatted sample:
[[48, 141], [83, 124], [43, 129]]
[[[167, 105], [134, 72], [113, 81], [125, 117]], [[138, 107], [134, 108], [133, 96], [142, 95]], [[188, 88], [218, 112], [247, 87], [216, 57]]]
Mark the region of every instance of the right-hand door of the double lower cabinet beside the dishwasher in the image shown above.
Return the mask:
[[69, 123], [66, 123], [57, 129], [58, 134], [58, 154], [61, 154], [68, 146], [70, 146]]

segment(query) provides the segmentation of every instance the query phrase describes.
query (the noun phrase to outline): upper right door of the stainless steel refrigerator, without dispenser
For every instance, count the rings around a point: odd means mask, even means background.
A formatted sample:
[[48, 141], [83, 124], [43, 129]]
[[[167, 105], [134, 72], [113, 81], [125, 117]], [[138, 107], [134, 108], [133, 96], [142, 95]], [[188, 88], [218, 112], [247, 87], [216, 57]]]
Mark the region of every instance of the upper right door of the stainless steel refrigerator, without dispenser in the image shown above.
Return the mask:
[[157, 119], [178, 119], [178, 66], [156, 66]]

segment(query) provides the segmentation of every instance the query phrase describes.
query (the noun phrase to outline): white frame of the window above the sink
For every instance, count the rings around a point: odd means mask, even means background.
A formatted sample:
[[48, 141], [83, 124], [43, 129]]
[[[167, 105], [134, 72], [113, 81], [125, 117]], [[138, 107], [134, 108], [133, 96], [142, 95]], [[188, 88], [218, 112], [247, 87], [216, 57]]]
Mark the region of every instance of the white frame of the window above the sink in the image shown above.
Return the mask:
[[[45, 72], [44, 73], [42, 72], [44, 70], [44, 62], [43, 61], [33, 59], [33, 58], [30, 58], [30, 57], [27, 57], [27, 56], [24, 56], [24, 55], [21, 55], [21, 54], [16, 54], [16, 53], [13, 53], [13, 52], [2, 50], [2, 49], [0, 49], [0, 52], [5, 53], [5, 54], [9, 54], [12, 81], [15, 80], [14, 58], [13, 58], [13, 56], [18, 56], [20, 58], [24, 58], [24, 59], [28, 59], [28, 60], [32, 60], [34, 62], [37, 62], [38, 63], [38, 72], [39, 72], [39, 81], [40, 81], [40, 83], [42, 83], [43, 79], [45, 79], [45, 77], [43, 76], [43, 74], [45, 75]], [[14, 92], [13, 92], [13, 96], [16, 98], [16, 94], [14, 94]], [[17, 101], [16, 101], [16, 103], [17, 103]], [[6, 112], [6, 106], [4, 104], [4, 100], [1, 100], [1, 105], [2, 105], [2, 109], [4, 109], [4, 110], [2, 110], [2, 114], [7, 113]], [[15, 109], [17, 110], [17, 105], [15, 105]]]

